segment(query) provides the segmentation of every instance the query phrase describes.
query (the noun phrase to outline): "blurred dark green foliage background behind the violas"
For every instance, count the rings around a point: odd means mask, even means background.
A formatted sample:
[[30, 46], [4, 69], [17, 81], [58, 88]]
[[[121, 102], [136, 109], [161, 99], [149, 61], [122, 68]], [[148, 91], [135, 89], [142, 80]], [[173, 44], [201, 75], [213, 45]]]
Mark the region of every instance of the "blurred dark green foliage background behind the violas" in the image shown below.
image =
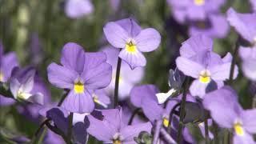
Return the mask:
[[[89, 3], [88, 3], [89, 2]], [[106, 22], [122, 18], [134, 18], [142, 27], [153, 27], [162, 35], [161, 46], [146, 53], [147, 65], [142, 84], [155, 84], [160, 90], [168, 90], [168, 74], [175, 68], [175, 58], [181, 43], [189, 38], [188, 23], [175, 20], [172, 6], [166, 0], [91, 0], [86, 10], [72, 11], [69, 0], [0, 0], [0, 41], [4, 51], [14, 51], [21, 66], [34, 66], [50, 90], [51, 99], [58, 101], [62, 90], [47, 82], [46, 68], [51, 62], [59, 62], [62, 46], [77, 42], [86, 51], [94, 52], [108, 46], [102, 27]], [[68, 7], [68, 5], [71, 5]], [[229, 7], [238, 12], [250, 12], [247, 0], [226, 0], [221, 12]], [[225, 55], [234, 49], [238, 35], [230, 28], [225, 38], [214, 39], [214, 51]], [[239, 62], [239, 60], [238, 60]], [[254, 91], [242, 73], [234, 82], [240, 102], [245, 108], [251, 106]], [[251, 92], [251, 93], [250, 93]], [[24, 114], [12, 106], [0, 107], [0, 130], [11, 134], [24, 134], [31, 138], [38, 128]], [[4, 141], [1, 133], [0, 143]]]

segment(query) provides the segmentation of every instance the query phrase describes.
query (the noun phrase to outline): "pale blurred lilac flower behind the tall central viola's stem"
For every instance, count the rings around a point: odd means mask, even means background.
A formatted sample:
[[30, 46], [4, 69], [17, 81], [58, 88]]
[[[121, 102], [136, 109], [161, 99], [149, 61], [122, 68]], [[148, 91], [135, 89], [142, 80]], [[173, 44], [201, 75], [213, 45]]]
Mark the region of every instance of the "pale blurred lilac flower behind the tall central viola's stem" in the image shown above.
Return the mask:
[[[118, 54], [119, 50], [113, 47], [106, 47], [103, 49], [106, 53], [107, 60], [106, 62], [110, 63], [113, 68], [112, 80], [110, 85], [106, 87], [106, 90], [109, 95], [114, 94], [114, 82], [115, 82], [115, 74], [116, 67], [118, 64]], [[144, 68], [137, 67], [134, 70], [130, 70], [130, 66], [126, 62], [122, 62], [120, 76], [119, 76], [119, 90], [118, 96], [120, 100], [124, 100], [129, 97], [130, 90], [133, 88], [135, 84], [140, 82], [144, 75]]]

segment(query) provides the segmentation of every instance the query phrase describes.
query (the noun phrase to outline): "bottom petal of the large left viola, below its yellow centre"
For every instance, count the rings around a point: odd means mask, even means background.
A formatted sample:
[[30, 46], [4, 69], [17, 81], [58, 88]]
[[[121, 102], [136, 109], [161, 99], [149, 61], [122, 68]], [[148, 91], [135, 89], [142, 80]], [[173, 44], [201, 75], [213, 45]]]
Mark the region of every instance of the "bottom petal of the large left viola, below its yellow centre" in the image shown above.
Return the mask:
[[62, 107], [73, 113], [90, 113], [94, 110], [94, 101], [87, 91], [82, 94], [75, 94], [74, 90], [70, 90], [62, 103]]

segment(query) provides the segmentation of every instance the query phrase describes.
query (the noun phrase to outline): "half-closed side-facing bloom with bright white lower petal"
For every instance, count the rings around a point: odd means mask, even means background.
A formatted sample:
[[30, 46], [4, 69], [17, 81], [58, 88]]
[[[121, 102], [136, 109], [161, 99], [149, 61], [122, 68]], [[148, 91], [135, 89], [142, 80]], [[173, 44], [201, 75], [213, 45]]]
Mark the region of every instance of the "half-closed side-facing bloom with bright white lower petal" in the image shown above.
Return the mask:
[[185, 80], [185, 75], [182, 74], [181, 71], [179, 71], [177, 68], [175, 70], [170, 70], [169, 71], [169, 86], [170, 90], [167, 93], [158, 93], [156, 94], [158, 98], [158, 103], [162, 104], [166, 102], [170, 96], [174, 96], [175, 94], [178, 93], [178, 90], [181, 90], [182, 84]]

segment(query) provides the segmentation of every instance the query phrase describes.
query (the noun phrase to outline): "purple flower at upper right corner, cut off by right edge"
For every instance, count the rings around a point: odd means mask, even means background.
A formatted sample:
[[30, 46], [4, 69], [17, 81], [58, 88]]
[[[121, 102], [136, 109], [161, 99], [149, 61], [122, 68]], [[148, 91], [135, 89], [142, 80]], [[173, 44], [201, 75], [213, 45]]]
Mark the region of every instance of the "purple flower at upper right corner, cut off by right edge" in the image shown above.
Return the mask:
[[256, 41], [256, 14], [238, 14], [232, 8], [227, 11], [227, 20], [235, 30], [251, 44]]

